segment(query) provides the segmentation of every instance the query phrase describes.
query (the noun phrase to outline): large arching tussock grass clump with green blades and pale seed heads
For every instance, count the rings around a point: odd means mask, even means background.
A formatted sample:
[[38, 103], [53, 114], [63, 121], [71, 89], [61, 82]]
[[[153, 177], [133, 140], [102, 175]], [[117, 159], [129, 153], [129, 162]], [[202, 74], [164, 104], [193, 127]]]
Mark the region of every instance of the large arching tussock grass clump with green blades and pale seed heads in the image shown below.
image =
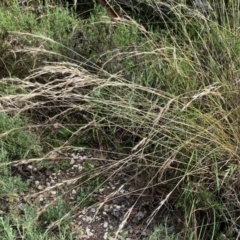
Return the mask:
[[[71, 50], [54, 38], [11, 31], [18, 42], [33, 43], [11, 50], [28, 59], [30, 71], [1, 79], [1, 111], [27, 117], [26, 128], [42, 147], [40, 157], [24, 155], [13, 164], [97, 148], [100, 164], [70, 183], [85, 186], [103, 177], [100, 187], [124, 171], [129, 182], [141, 182], [134, 192], [139, 199], [151, 190], [155, 204], [147, 225], [167, 205], [182, 213], [180, 239], [232, 237], [239, 227], [240, 179], [238, 5], [232, 8], [219, 25], [215, 17], [177, 5], [174, 21], [153, 31], [131, 20], [112, 23], [97, 9], [72, 28], [77, 37]], [[39, 42], [44, 49], [34, 46]], [[6, 128], [3, 142], [8, 134]]]

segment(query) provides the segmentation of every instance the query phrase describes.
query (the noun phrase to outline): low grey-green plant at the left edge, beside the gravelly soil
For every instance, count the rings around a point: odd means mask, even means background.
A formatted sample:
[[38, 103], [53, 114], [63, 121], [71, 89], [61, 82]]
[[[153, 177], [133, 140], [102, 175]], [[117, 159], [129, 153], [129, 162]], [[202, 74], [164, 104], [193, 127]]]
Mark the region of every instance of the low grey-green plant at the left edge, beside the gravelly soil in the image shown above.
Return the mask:
[[1, 212], [9, 212], [8, 215], [4, 214], [1, 217], [2, 239], [17, 238], [19, 232], [13, 227], [10, 216], [19, 214], [19, 209], [15, 204], [19, 201], [19, 196], [27, 192], [30, 187], [29, 182], [24, 181], [16, 173], [17, 169], [11, 166], [11, 162], [39, 156], [41, 152], [37, 137], [25, 125], [26, 120], [18, 115], [8, 116], [4, 112], [0, 113], [0, 202]]

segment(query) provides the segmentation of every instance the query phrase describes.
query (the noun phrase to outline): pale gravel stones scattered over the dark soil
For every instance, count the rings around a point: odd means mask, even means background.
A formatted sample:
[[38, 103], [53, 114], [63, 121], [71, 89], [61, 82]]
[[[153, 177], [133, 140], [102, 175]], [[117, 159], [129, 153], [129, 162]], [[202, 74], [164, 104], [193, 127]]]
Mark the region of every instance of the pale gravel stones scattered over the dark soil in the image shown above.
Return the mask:
[[[52, 170], [54, 168], [50, 167], [52, 165], [54, 166], [54, 164], [60, 164], [59, 161], [52, 161], [52, 163], [49, 163], [49, 169], [46, 169], [44, 173], [41, 169], [37, 169], [33, 165], [25, 166], [27, 169], [26, 171], [32, 173], [32, 175], [29, 176], [29, 180], [33, 183], [33, 189], [31, 191], [35, 194], [35, 199], [32, 199], [33, 203], [39, 201], [41, 203], [40, 205], [43, 206], [51, 200], [54, 201], [56, 196], [68, 192], [67, 204], [76, 206], [79, 192], [81, 192], [79, 186], [71, 183], [71, 181], [64, 184], [59, 183], [80, 176], [79, 174], [87, 171], [83, 167], [84, 162], [87, 162], [93, 168], [95, 162], [92, 160], [92, 155], [89, 153], [61, 152], [60, 155], [57, 155], [57, 159], [61, 159], [62, 155], [66, 156], [65, 158], [70, 165], [62, 170], [54, 171]], [[136, 206], [123, 228], [123, 232], [127, 233], [127, 236], [124, 235], [124, 239], [142, 240], [144, 239], [143, 235], [145, 235], [145, 238], [149, 235], [149, 232], [144, 230], [144, 221], [147, 219], [147, 216], [150, 215], [149, 207], [145, 208], [145, 205], [142, 204], [146, 202], [146, 200], [143, 199], [139, 201], [138, 195], [131, 195], [131, 191], [135, 191], [138, 186], [136, 186], [135, 182], [131, 183], [129, 180], [130, 178], [124, 173], [116, 174], [114, 177], [115, 178], [108, 178], [106, 184], [94, 191], [94, 198], [100, 199], [99, 202], [104, 202], [104, 204], [95, 203], [89, 208], [76, 206], [71, 224], [76, 229], [76, 233], [82, 231], [81, 237], [76, 234], [76, 240], [114, 239], [111, 234], [117, 231], [126, 213], [135, 205]], [[48, 190], [48, 188], [51, 190]], [[109, 196], [112, 197], [109, 198]], [[148, 198], [149, 196], [147, 196], [147, 199]], [[135, 204], [136, 201], [138, 201], [137, 204]]]

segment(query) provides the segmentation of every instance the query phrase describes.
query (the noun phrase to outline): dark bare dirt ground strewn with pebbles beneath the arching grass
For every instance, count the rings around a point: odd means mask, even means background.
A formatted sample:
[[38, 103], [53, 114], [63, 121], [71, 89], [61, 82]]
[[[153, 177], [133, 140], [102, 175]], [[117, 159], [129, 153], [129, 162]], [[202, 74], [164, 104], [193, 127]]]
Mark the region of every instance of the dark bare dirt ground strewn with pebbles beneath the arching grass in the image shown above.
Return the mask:
[[[85, 171], [84, 164], [93, 168], [100, 164], [93, 154], [55, 152], [51, 154], [47, 167], [34, 164], [14, 167], [15, 174], [30, 181], [32, 186], [19, 201], [38, 206], [41, 216], [48, 204], [56, 203], [58, 198], [63, 199], [70, 209], [70, 226], [76, 240], [166, 239], [166, 234], [174, 234], [178, 227], [182, 228], [181, 215], [170, 205], [164, 205], [151, 217], [167, 193], [163, 190], [162, 197], [159, 193], [152, 193], [144, 188], [141, 179], [131, 180], [131, 172], [123, 170], [117, 174], [103, 174], [104, 183], [93, 189], [91, 200], [88, 197], [81, 199], [84, 189], [89, 187], [87, 181], [79, 184], [79, 177]], [[64, 169], [59, 169], [59, 166]], [[67, 209], [63, 211], [63, 219], [68, 213]], [[53, 229], [57, 222], [44, 224], [47, 229]], [[159, 225], [164, 227], [163, 232], [154, 232]]]

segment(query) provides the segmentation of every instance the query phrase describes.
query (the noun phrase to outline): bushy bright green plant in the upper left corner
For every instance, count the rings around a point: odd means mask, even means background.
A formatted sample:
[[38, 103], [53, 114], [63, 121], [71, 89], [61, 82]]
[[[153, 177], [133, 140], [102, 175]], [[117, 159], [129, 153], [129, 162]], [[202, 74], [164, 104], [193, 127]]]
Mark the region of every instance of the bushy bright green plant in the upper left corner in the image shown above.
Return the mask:
[[[17, 0], [11, 5], [0, 3], [0, 69], [4, 76], [26, 76], [29, 69], [47, 59], [54, 61], [72, 54], [63, 46], [70, 46], [71, 32], [77, 24], [74, 12], [62, 5], [52, 8], [42, 4], [39, 1], [35, 7], [19, 7]], [[36, 38], [37, 34], [41, 37]], [[15, 54], [9, 54], [13, 48]], [[30, 48], [38, 50], [33, 53]], [[46, 55], [45, 51], [53, 54]]]

